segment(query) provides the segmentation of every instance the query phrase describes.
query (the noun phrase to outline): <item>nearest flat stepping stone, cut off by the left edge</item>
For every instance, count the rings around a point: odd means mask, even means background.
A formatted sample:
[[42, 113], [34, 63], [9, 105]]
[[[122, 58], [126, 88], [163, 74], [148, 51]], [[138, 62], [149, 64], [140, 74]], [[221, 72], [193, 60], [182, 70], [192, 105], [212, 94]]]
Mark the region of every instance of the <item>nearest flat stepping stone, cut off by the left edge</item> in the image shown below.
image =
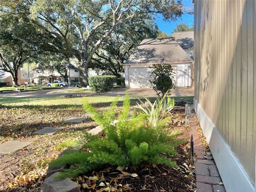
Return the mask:
[[22, 141], [7, 141], [0, 144], [0, 153], [1, 154], [11, 154], [23, 147], [26, 147], [31, 142], [22, 142]]

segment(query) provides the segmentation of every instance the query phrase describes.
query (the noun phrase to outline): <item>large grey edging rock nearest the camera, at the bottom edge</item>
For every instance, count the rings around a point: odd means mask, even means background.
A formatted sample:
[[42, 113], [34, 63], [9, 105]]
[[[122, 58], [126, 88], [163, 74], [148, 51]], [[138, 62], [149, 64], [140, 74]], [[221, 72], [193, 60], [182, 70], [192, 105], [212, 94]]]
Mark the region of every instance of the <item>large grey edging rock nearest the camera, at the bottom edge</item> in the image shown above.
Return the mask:
[[43, 192], [80, 192], [78, 184], [70, 179], [58, 179], [56, 175], [59, 172], [52, 174], [44, 181]]

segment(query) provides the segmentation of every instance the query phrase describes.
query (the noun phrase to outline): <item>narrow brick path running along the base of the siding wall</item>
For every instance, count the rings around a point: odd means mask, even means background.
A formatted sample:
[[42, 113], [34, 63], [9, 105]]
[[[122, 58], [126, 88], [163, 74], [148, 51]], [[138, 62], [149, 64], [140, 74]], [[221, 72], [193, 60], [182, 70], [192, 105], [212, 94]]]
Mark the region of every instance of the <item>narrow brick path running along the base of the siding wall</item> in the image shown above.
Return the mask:
[[196, 130], [197, 122], [196, 115], [191, 115], [191, 128], [194, 137], [194, 153], [197, 156], [195, 161], [196, 167], [196, 189], [197, 192], [225, 192], [225, 187], [222, 183], [219, 171], [215, 165], [213, 156], [210, 151], [205, 151]]

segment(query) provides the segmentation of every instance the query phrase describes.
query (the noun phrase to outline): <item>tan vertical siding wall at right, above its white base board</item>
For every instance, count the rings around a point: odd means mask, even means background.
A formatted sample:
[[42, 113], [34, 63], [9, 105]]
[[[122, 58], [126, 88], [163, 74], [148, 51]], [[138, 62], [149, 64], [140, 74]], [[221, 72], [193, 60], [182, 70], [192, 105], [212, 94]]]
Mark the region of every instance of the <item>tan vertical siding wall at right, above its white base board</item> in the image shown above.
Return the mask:
[[194, 6], [195, 98], [255, 182], [256, 1]]

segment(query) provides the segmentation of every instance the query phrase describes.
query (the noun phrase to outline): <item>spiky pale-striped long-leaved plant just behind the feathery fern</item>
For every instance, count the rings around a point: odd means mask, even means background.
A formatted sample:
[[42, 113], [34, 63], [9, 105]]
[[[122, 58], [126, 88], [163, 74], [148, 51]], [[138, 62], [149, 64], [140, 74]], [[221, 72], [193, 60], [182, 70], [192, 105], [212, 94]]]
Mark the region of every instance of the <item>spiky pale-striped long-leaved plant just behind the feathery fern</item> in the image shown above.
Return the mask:
[[171, 110], [174, 107], [174, 99], [167, 97], [167, 93], [168, 92], [163, 95], [163, 98], [157, 98], [153, 104], [148, 98], [145, 98], [145, 100], [149, 103], [148, 107], [145, 106], [144, 102], [141, 100], [140, 104], [137, 103], [137, 108], [141, 109], [142, 112], [148, 116], [148, 122], [154, 127], [156, 127], [167, 114], [171, 114]]

